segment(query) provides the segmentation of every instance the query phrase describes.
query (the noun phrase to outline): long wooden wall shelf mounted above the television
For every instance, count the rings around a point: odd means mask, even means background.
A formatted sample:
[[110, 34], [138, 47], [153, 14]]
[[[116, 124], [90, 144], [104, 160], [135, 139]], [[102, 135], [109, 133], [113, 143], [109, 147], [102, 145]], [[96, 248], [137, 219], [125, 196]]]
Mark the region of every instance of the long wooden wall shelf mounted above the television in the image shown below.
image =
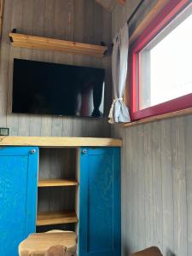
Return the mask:
[[13, 47], [43, 49], [66, 52], [73, 55], [87, 55], [102, 58], [108, 50], [107, 46], [84, 44], [55, 38], [41, 38], [16, 32], [9, 33]]

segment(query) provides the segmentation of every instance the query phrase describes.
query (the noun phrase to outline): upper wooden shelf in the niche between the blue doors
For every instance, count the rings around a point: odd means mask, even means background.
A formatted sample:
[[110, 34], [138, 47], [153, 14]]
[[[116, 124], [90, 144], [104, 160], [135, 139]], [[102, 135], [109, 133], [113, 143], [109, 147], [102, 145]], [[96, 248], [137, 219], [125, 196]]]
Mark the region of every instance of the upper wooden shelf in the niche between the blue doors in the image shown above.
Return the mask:
[[78, 185], [79, 182], [73, 179], [40, 179], [38, 181], [38, 188], [69, 187]]

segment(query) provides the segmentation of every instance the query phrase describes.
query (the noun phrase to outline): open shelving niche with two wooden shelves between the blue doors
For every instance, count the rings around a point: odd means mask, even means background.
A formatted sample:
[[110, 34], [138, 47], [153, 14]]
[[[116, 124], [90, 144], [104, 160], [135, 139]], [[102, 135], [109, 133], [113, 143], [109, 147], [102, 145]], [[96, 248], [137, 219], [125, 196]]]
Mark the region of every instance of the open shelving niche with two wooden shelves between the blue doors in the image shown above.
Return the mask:
[[77, 230], [78, 190], [76, 148], [40, 148], [37, 230]]

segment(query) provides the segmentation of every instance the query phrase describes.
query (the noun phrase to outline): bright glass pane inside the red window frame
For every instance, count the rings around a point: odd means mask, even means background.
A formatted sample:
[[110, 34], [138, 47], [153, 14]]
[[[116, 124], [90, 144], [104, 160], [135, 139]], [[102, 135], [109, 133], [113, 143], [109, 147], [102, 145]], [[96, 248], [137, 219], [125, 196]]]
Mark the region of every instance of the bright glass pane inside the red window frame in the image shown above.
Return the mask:
[[192, 12], [138, 54], [139, 109], [192, 93]]

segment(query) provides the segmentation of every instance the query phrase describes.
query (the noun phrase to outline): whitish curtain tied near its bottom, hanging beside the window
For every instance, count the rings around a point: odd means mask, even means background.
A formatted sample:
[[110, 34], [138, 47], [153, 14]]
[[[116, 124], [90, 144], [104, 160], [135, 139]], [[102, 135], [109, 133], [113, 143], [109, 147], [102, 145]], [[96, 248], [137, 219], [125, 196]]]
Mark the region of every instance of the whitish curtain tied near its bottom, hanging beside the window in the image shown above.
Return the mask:
[[130, 113], [123, 102], [129, 50], [129, 29], [127, 23], [113, 39], [112, 76], [113, 76], [113, 104], [108, 115], [108, 122], [130, 122]]

